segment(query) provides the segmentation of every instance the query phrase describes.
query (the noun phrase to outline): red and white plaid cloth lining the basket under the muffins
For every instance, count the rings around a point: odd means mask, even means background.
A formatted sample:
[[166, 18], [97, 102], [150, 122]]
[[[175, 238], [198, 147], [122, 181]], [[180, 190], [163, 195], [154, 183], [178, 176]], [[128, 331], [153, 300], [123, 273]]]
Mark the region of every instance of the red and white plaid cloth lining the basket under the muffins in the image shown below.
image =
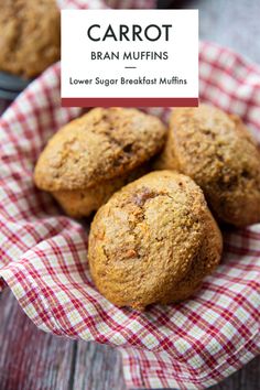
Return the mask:
[[[260, 139], [257, 66], [202, 43], [201, 98], [240, 115]], [[169, 115], [169, 109], [148, 111]], [[224, 232], [223, 262], [193, 299], [145, 313], [113, 306], [89, 277], [88, 224], [64, 216], [32, 181], [46, 140], [79, 113], [59, 106], [56, 64], [0, 119], [1, 288], [9, 285], [41, 329], [117, 346], [129, 388], [214, 384], [259, 353], [260, 225]]]

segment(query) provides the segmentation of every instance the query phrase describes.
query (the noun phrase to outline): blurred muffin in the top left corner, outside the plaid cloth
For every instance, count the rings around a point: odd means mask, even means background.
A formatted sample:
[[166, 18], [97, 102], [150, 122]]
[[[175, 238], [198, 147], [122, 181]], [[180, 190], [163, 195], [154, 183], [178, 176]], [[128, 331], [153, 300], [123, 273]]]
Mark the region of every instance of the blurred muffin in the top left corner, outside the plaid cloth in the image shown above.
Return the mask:
[[34, 77], [59, 59], [55, 0], [1, 0], [0, 69]]

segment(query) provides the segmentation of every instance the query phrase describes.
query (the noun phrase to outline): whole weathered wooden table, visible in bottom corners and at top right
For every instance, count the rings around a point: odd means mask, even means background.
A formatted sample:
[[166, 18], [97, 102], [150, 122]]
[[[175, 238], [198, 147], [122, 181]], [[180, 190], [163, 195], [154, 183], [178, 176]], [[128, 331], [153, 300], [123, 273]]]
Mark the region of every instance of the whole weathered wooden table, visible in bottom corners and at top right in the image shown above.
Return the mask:
[[[162, 0], [161, 4], [169, 0]], [[174, 1], [201, 11], [201, 39], [235, 48], [260, 64], [259, 0]], [[9, 291], [0, 300], [0, 390], [122, 390], [119, 353], [39, 331]], [[212, 390], [260, 389], [260, 360]]]

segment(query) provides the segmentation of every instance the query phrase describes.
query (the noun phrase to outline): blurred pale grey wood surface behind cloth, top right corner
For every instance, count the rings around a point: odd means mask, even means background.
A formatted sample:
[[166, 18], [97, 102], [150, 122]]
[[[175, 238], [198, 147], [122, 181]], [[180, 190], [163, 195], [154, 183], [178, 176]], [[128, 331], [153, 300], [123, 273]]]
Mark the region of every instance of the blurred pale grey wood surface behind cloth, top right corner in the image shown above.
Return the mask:
[[260, 64], [259, 0], [158, 0], [161, 8], [198, 9], [199, 39], [234, 48]]

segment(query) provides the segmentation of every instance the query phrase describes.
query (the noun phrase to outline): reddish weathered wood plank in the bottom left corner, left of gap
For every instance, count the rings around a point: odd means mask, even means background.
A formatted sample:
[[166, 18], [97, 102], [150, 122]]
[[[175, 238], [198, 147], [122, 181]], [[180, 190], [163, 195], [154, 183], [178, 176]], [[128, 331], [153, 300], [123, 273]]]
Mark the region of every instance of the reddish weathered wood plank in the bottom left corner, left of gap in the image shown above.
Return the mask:
[[0, 388], [68, 389], [75, 342], [39, 331], [9, 291], [0, 301]]

